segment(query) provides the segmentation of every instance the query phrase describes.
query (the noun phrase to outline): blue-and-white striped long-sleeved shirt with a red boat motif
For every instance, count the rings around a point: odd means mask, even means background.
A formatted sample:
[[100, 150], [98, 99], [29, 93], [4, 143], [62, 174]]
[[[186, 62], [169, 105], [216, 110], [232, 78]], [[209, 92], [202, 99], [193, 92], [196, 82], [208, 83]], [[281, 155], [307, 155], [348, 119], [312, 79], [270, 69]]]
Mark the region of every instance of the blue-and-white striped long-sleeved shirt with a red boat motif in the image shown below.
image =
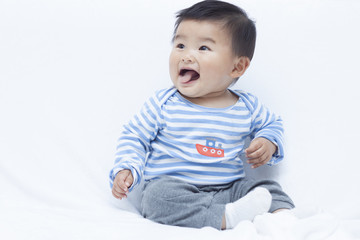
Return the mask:
[[[233, 90], [232, 90], [233, 91]], [[282, 120], [252, 94], [208, 108], [183, 98], [175, 88], [158, 91], [123, 128], [110, 172], [130, 169], [131, 189], [141, 179], [172, 176], [195, 185], [226, 184], [245, 176], [240, 158], [246, 138], [264, 137], [278, 146], [268, 165], [283, 159]]]

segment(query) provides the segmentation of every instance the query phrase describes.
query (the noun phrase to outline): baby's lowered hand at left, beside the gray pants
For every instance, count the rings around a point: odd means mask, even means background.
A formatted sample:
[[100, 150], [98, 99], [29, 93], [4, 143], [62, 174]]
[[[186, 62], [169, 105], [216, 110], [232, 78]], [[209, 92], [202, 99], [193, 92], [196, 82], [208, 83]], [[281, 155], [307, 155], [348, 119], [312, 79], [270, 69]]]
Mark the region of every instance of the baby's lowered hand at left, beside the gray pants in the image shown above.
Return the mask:
[[127, 198], [129, 187], [133, 184], [134, 178], [130, 170], [121, 170], [115, 177], [112, 194], [117, 199]]

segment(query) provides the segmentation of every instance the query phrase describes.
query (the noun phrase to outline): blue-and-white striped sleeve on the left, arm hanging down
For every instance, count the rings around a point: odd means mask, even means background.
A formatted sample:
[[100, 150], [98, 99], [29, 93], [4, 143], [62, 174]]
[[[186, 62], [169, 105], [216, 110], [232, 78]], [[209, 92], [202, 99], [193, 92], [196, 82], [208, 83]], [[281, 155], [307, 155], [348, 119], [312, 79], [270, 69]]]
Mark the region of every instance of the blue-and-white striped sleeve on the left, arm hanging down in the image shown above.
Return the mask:
[[110, 171], [111, 187], [116, 174], [123, 169], [131, 170], [134, 177], [130, 190], [140, 182], [151, 141], [155, 139], [159, 130], [161, 122], [159, 106], [157, 96], [151, 97], [145, 102], [141, 111], [123, 127], [118, 139], [115, 163]]

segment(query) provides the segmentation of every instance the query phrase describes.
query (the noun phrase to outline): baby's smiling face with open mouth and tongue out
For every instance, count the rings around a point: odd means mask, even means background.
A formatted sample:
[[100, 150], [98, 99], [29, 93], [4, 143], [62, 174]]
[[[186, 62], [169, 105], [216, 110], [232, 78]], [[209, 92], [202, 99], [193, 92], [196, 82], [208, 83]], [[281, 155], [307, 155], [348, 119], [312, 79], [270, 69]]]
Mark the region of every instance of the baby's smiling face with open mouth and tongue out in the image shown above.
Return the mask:
[[217, 22], [185, 20], [179, 24], [169, 66], [171, 80], [182, 95], [212, 97], [231, 85], [238, 58], [228, 35]]

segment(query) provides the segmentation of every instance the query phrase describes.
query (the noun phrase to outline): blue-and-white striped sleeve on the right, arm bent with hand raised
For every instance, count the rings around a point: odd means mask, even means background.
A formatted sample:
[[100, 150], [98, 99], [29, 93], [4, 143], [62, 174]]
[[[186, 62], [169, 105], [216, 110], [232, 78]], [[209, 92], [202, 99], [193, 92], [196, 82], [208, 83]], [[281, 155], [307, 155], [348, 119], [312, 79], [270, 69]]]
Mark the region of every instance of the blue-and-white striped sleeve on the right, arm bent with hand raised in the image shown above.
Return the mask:
[[282, 119], [272, 113], [252, 94], [243, 95], [252, 114], [251, 138], [263, 137], [273, 142], [278, 150], [268, 165], [279, 163], [284, 158], [284, 129]]

